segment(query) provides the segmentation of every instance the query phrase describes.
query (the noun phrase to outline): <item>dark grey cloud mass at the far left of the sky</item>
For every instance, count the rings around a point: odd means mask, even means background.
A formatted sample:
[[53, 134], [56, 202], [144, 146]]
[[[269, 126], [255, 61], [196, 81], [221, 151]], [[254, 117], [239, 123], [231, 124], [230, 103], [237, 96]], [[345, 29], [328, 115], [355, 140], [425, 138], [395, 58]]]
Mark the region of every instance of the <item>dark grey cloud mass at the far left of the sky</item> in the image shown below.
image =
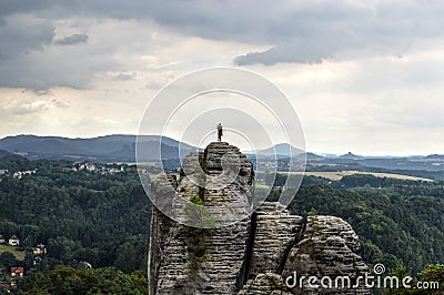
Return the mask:
[[51, 20], [30, 13], [4, 18], [0, 26], [0, 87], [41, 90], [88, 85], [91, 71], [87, 64], [49, 51], [54, 30]]

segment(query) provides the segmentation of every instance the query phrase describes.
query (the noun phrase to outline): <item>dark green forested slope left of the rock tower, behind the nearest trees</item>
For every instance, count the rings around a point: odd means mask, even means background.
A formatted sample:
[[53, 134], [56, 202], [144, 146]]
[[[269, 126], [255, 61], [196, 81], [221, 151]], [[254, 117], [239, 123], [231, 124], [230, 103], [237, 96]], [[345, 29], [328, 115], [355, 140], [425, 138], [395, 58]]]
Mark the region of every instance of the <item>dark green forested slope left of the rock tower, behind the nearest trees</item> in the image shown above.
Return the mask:
[[[150, 204], [134, 167], [102, 174], [17, 155], [0, 166], [9, 169], [0, 181], [0, 234], [17, 235], [23, 250], [43, 243], [50, 264], [145, 267]], [[36, 173], [12, 176], [30, 169]]]

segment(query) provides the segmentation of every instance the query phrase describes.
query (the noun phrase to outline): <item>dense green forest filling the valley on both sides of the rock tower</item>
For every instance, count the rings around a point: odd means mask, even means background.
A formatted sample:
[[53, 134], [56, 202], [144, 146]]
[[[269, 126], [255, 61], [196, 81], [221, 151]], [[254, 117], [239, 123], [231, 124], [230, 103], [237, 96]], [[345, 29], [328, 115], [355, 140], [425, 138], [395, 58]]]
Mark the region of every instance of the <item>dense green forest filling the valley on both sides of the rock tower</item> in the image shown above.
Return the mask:
[[[19, 250], [24, 251], [22, 260], [8, 251], [0, 253], [0, 268], [9, 271], [21, 265], [27, 272], [42, 272], [27, 276], [22, 289], [37, 288], [32, 283], [36, 279], [48, 283], [59, 276], [91, 279], [91, 275], [113, 273], [129, 284], [140, 285], [143, 281], [140, 274], [147, 267], [150, 202], [135, 167], [97, 164], [101, 170], [88, 171], [80, 169], [82, 164], [30, 161], [18, 155], [0, 160], [0, 169], [8, 170], [0, 175], [0, 235], [18, 235]], [[36, 172], [13, 176], [30, 170]], [[285, 182], [282, 175], [274, 182], [265, 180], [276, 186], [274, 193]], [[444, 262], [443, 182], [365, 174], [340, 181], [306, 176], [289, 208], [302, 216], [314, 210], [346, 220], [361, 238], [362, 255], [369, 265], [383, 263], [389, 269], [404, 267], [416, 275], [422, 269], [434, 269], [427, 264]], [[30, 253], [39, 243], [46, 245], [48, 254], [33, 265]], [[108, 268], [82, 273], [88, 271], [82, 271], [85, 262], [92, 268]]]

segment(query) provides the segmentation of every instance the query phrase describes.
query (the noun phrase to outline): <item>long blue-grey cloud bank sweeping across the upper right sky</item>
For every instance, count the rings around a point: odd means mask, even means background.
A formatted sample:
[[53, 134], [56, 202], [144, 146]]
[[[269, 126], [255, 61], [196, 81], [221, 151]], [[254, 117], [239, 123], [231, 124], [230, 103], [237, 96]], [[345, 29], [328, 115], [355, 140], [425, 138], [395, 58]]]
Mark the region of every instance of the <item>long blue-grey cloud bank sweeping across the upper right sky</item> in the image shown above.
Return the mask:
[[[185, 34], [274, 48], [243, 63], [313, 62], [375, 52], [397, 54], [423, 39], [443, 37], [440, 1], [70, 1], [70, 13], [153, 19]], [[59, 2], [60, 4], [60, 2]], [[60, 9], [60, 8], [59, 8]], [[58, 13], [62, 13], [59, 11]], [[295, 51], [297, 57], [292, 54]], [[293, 57], [292, 57], [293, 55]]]

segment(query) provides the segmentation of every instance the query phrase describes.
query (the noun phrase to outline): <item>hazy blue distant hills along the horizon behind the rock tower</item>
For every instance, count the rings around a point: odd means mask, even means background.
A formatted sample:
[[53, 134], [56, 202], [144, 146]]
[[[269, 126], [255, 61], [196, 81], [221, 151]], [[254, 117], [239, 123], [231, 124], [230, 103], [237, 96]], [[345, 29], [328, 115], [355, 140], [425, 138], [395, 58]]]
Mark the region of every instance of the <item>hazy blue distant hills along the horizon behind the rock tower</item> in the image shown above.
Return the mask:
[[[162, 144], [159, 142], [162, 139]], [[179, 142], [174, 139], [159, 135], [143, 135], [139, 138], [143, 153], [143, 161], [155, 161], [162, 152], [163, 160], [179, 159], [199, 150], [195, 146]], [[8, 153], [18, 153], [28, 159], [65, 159], [72, 161], [98, 162], [134, 162], [137, 135], [105, 135], [91, 139], [69, 139], [62, 136], [17, 135], [0, 140], [0, 159]], [[442, 170], [441, 162], [444, 155], [432, 154], [427, 156], [394, 157], [394, 156], [362, 156], [349, 152], [344, 155], [316, 154], [304, 152], [287, 143], [280, 143], [256, 152], [245, 151], [250, 156], [261, 159], [274, 157], [289, 159], [305, 156], [309, 162], [319, 164], [349, 164], [357, 163], [364, 166], [412, 169], [423, 163], [424, 170]], [[438, 163], [435, 163], [438, 162]], [[443, 163], [444, 167], [444, 163]]]

